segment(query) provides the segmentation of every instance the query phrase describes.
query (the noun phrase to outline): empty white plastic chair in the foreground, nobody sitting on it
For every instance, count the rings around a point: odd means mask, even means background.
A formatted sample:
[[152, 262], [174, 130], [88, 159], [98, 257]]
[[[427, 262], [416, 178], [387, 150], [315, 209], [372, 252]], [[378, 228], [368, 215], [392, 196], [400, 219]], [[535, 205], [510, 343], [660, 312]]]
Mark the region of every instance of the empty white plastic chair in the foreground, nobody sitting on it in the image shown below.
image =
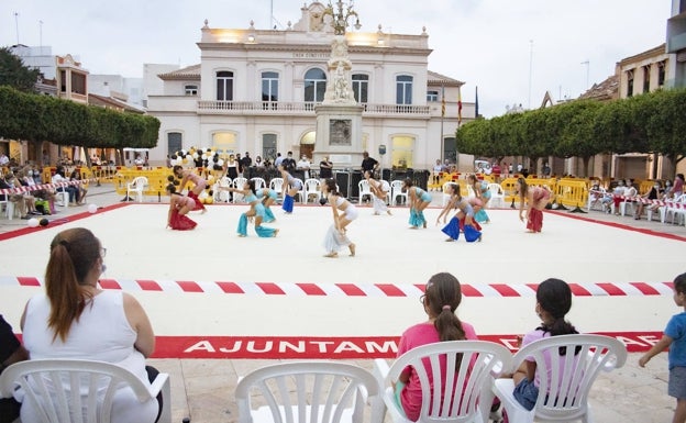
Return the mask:
[[235, 399], [239, 423], [362, 423], [365, 404], [373, 404], [369, 421], [380, 422], [374, 376], [339, 361], [280, 363], [259, 368], [239, 380]]

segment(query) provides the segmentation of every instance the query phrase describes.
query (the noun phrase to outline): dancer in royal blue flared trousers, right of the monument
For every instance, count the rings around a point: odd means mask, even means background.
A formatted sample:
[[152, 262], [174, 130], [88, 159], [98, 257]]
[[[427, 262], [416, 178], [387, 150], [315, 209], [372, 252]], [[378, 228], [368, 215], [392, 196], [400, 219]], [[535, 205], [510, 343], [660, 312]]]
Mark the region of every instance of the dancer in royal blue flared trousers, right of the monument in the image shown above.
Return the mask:
[[441, 218], [443, 218], [443, 223], [445, 223], [451, 210], [456, 209], [457, 212], [441, 230], [449, 236], [445, 241], [457, 241], [460, 238], [461, 231], [465, 234], [465, 240], [468, 243], [482, 241], [482, 226], [478, 222], [474, 221], [474, 209], [478, 199], [467, 199], [462, 197], [460, 186], [457, 183], [451, 183], [447, 189], [451, 194], [451, 199], [441, 211], [441, 214], [436, 218], [436, 225], [441, 223]]

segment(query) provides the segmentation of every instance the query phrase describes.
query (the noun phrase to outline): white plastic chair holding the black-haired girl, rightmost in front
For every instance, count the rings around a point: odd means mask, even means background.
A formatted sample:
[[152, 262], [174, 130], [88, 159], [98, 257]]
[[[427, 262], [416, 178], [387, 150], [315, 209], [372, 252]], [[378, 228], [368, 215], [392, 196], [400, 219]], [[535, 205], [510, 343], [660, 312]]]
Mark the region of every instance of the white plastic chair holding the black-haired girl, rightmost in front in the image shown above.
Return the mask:
[[[560, 354], [564, 347], [565, 355]], [[575, 355], [574, 353], [577, 352]], [[535, 341], [521, 348], [512, 358], [513, 372], [533, 357], [541, 378], [539, 398], [531, 411], [524, 409], [513, 396], [512, 379], [497, 379], [494, 393], [508, 414], [510, 423], [568, 422], [582, 420], [591, 423], [593, 414], [588, 393], [600, 370], [611, 371], [627, 361], [627, 347], [616, 338], [602, 335], [558, 335]], [[550, 360], [551, 368], [546, 366]]]

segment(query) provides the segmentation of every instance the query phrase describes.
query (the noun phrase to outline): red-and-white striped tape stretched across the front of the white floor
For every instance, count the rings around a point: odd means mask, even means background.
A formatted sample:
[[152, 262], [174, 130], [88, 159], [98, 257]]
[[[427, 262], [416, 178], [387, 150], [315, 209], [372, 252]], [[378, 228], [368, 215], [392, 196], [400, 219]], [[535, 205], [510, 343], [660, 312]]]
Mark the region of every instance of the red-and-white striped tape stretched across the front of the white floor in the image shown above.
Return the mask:
[[[0, 276], [0, 286], [41, 287], [37, 277]], [[417, 297], [424, 285], [412, 283], [319, 283], [239, 282], [148, 279], [100, 279], [103, 289], [124, 291], [232, 293], [298, 297]], [[576, 297], [672, 296], [673, 282], [580, 282], [569, 283]], [[535, 297], [538, 283], [463, 283], [465, 297]]]

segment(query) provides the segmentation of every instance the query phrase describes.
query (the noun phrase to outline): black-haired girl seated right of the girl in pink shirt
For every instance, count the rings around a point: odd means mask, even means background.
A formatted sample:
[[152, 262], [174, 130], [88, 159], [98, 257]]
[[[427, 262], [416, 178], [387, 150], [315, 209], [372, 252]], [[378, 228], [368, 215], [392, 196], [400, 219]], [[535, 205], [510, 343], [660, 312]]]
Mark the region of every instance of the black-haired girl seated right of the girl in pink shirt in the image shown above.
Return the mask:
[[[574, 325], [565, 320], [569, 309], [572, 309], [572, 290], [567, 282], [554, 278], [541, 282], [536, 289], [535, 304], [535, 312], [541, 319], [541, 325], [524, 335], [521, 346], [544, 337], [578, 333]], [[561, 352], [561, 354], [563, 353]], [[577, 354], [577, 352], [565, 352], [565, 354]], [[549, 372], [552, 371], [551, 359], [546, 353], [544, 353], [544, 359]], [[514, 398], [527, 410], [532, 410], [535, 405], [541, 377], [540, 372], [536, 371], [533, 357], [528, 357], [512, 375]], [[543, 375], [543, 377], [547, 378], [547, 386], [550, 387], [551, 375]]]

